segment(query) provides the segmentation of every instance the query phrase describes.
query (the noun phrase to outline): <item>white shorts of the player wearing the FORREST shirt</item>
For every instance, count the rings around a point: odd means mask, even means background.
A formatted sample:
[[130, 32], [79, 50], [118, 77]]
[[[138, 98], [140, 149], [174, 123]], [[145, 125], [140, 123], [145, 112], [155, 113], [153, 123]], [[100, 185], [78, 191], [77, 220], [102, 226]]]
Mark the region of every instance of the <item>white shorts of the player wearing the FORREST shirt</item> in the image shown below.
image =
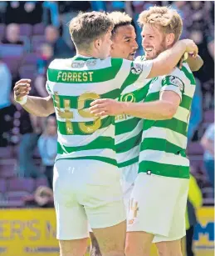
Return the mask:
[[106, 228], [125, 220], [120, 172], [95, 160], [58, 160], [54, 166], [56, 238], [89, 236], [91, 228]]

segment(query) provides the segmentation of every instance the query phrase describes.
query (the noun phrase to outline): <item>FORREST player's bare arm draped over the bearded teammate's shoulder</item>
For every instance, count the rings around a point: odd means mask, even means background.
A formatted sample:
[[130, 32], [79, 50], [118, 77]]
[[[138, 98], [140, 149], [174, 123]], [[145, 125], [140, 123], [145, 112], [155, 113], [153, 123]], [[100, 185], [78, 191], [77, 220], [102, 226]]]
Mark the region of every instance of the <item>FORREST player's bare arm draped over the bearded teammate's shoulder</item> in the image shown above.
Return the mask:
[[[192, 52], [193, 57], [198, 55], [198, 47], [193, 40], [180, 40], [172, 48], [160, 53], [157, 58], [151, 61], [153, 64], [147, 78], [159, 77], [171, 73], [185, 52]], [[147, 61], [144, 63], [147, 63]]]

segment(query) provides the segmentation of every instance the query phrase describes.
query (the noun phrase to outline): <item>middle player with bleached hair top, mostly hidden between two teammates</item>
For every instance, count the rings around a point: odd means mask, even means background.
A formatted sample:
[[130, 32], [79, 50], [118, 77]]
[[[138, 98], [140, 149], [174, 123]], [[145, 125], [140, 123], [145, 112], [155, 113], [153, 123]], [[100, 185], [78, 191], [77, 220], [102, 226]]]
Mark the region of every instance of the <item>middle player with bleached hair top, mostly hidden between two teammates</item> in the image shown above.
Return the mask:
[[[112, 58], [125, 58], [134, 60], [138, 44], [136, 33], [132, 26], [132, 18], [126, 13], [112, 12], [109, 17], [114, 23], [112, 30], [112, 45], [110, 56]], [[136, 58], [139, 59], [139, 58]], [[145, 60], [145, 58], [142, 58]], [[188, 65], [192, 71], [197, 71], [203, 66], [203, 60], [198, 56], [188, 57]], [[150, 80], [146, 80], [144, 88], [138, 88], [135, 81], [130, 81], [128, 87], [120, 93], [120, 101], [142, 102], [148, 93]], [[115, 145], [116, 160], [122, 174], [121, 185], [123, 188], [125, 206], [129, 206], [129, 198], [134, 180], [138, 174], [139, 146], [142, 137], [143, 119], [120, 114], [115, 117]]]

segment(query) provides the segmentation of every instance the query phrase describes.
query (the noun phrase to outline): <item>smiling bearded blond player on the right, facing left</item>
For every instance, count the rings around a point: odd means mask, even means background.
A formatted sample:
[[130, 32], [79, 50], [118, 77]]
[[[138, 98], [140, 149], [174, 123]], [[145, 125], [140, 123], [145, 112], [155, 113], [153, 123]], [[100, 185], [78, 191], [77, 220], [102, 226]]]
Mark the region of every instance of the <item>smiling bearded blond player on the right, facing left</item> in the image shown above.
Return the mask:
[[[171, 8], [150, 8], [139, 16], [146, 59], [178, 41], [182, 19]], [[185, 235], [189, 163], [187, 128], [195, 80], [183, 63], [164, 77], [151, 80], [144, 103], [98, 99], [90, 113], [144, 118], [139, 174], [129, 205], [126, 255], [149, 255], [154, 240], [159, 254], [181, 256]]]

